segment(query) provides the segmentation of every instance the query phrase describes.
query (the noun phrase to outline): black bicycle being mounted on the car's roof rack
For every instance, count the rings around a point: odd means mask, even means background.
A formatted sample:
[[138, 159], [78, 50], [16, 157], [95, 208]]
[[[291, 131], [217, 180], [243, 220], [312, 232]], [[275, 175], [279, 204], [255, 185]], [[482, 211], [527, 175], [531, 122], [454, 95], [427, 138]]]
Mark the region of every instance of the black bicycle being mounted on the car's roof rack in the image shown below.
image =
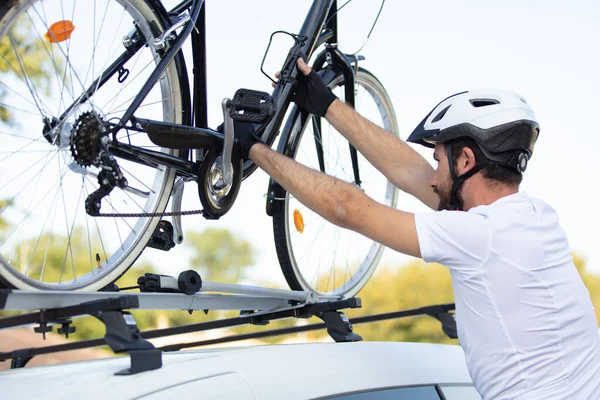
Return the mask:
[[[325, 119], [291, 103], [296, 60], [312, 59], [340, 99], [398, 135], [384, 87], [338, 48], [336, 0], [312, 3], [271, 94], [241, 90], [223, 101], [224, 133], [207, 124], [204, 1], [169, 11], [159, 0], [78, 3], [0, 5], [0, 285], [102, 290], [146, 246], [180, 244], [182, 215], [224, 215], [256, 169], [234, 145], [234, 119], [254, 123], [269, 146], [280, 135], [281, 153], [395, 206], [385, 177]], [[202, 210], [181, 211], [190, 181]], [[266, 203], [291, 289], [352, 296], [364, 286], [380, 244], [327, 223], [272, 180]]]

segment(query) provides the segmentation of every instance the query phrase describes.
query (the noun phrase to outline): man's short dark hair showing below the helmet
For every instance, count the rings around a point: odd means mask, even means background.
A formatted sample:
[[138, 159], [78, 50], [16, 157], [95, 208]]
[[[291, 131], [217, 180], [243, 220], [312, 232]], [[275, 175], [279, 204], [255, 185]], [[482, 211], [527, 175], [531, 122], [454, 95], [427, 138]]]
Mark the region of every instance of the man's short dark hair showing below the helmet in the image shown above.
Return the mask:
[[452, 146], [452, 154], [454, 155], [454, 167], [456, 167], [457, 165], [457, 155], [462, 151], [462, 149], [468, 147], [473, 151], [473, 154], [475, 154], [475, 160], [477, 162], [485, 163], [485, 166], [482, 169], [484, 178], [511, 186], [519, 186], [521, 184], [521, 181], [523, 180], [523, 174], [517, 171], [515, 168], [499, 164], [487, 158], [481, 151], [481, 148], [479, 147], [475, 139], [462, 137], [446, 142], [445, 145]]

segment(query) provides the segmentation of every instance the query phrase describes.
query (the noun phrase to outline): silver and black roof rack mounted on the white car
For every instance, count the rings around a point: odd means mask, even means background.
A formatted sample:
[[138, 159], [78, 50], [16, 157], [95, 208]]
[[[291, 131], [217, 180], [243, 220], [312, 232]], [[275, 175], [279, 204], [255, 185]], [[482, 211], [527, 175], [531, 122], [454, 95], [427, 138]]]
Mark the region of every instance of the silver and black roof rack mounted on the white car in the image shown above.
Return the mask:
[[[327, 329], [328, 334], [336, 342], [359, 341], [362, 338], [353, 332], [352, 324], [416, 315], [430, 315], [438, 319], [442, 323], [444, 332], [449, 337], [456, 338], [456, 323], [453, 314], [449, 313], [454, 310], [454, 304], [349, 320], [340, 310], [360, 308], [359, 298], [346, 299], [340, 296], [319, 296], [306, 291], [203, 282], [195, 271], [184, 271], [177, 279], [166, 275], [145, 274], [138, 279], [138, 286], [120, 290], [132, 288], [139, 289], [140, 293], [123, 294], [114, 285], [100, 292], [0, 290], [0, 310], [35, 310], [28, 314], [1, 318], [0, 329], [33, 324], [34, 331], [41, 333], [45, 339], [46, 333], [51, 332], [54, 325], [59, 325], [58, 333], [68, 338], [69, 334], [75, 332], [72, 318], [83, 315], [98, 318], [106, 327], [104, 338], [17, 349], [0, 353], [0, 361], [10, 359], [11, 368], [21, 368], [36, 355], [108, 345], [117, 354], [129, 353], [131, 367], [118, 371], [116, 375], [130, 375], [160, 368], [163, 351], [318, 329]], [[135, 319], [127, 311], [132, 309], [190, 312], [239, 310], [240, 315], [234, 318], [140, 331]], [[180, 343], [159, 349], [147, 340], [239, 325], [267, 325], [269, 321], [278, 319], [312, 316], [320, 318], [323, 323]]]

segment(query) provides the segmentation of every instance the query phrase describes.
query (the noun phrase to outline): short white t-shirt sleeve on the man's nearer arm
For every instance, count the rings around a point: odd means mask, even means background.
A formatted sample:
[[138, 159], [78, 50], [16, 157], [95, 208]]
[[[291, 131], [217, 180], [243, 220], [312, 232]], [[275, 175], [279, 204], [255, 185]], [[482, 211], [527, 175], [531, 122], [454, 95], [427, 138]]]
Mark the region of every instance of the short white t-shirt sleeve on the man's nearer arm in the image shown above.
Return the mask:
[[421, 257], [450, 269], [477, 268], [487, 258], [489, 221], [485, 215], [463, 211], [415, 214]]

